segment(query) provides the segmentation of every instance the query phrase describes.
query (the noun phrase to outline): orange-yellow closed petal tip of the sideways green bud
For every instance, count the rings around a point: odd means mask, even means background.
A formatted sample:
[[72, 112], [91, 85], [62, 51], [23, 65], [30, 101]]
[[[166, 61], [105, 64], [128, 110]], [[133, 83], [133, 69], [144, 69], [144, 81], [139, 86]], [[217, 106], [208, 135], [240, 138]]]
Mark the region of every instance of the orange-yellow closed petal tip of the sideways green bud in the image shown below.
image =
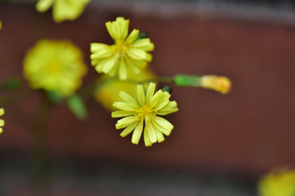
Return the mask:
[[230, 80], [224, 76], [202, 76], [201, 83], [203, 88], [213, 89], [222, 94], [228, 93], [231, 87]]

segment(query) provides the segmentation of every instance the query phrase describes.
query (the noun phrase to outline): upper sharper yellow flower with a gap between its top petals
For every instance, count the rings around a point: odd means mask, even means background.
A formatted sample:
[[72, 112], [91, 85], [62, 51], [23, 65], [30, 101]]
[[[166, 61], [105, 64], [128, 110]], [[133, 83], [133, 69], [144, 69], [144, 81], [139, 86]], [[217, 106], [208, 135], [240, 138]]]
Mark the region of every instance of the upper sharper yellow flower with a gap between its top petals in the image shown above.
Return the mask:
[[113, 22], [106, 22], [106, 29], [115, 44], [109, 46], [103, 43], [91, 43], [91, 64], [98, 73], [114, 76], [118, 72], [119, 79], [126, 80], [127, 68], [138, 74], [140, 68], [146, 67], [147, 62], [152, 60], [152, 55], [147, 52], [153, 51], [154, 44], [149, 38], [136, 40], [139, 33], [136, 29], [133, 29], [127, 37], [128, 26], [129, 20], [123, 17], [118, 17]]

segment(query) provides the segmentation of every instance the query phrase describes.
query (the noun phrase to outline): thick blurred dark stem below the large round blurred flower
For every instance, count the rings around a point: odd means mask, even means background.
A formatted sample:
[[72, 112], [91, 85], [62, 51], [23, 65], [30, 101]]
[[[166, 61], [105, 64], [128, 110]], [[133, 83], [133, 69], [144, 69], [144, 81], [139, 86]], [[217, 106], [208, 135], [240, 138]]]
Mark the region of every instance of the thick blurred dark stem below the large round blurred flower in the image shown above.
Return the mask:
[[46, 153], [45, 126], [49, 116], [51, 103], [46, 95], [42, 93], [41, 103], [36, 116], [32, 122], [32, 142], [31, 142], [31, 182], [33, 195], [50, 195], [50, 167]]

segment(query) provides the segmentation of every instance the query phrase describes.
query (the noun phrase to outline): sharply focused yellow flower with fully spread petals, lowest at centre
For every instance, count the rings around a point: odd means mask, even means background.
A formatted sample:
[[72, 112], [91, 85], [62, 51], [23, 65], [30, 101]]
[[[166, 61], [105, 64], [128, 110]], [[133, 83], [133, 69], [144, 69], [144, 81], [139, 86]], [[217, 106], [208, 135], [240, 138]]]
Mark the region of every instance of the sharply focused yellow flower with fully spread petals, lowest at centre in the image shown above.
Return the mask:
[[173, 125], [165, 118], [157, 115], [166, 115], [178, 111], [176, 101], [170, 101], [170, 94], [159, 90], [155, 93], [155, 83], [150, 83], [146, 96], [142, 85], [137, 85], [137, 98], [139, 103], [127, 93], [121, 91], [119, 96], [126, 101], [115, 102], [113, 107], [122, 110], [112, 112], [112, 117], [124, 117], [117, 121], [116, 129], [122, 129], [120, 134], [125, 137], [133, 130], [131, 142], [138, 144], [145, 123], [143, 138], [145, 146], [151, 146], [155, 142], [163, 142], [165, 135], [170, 135]]

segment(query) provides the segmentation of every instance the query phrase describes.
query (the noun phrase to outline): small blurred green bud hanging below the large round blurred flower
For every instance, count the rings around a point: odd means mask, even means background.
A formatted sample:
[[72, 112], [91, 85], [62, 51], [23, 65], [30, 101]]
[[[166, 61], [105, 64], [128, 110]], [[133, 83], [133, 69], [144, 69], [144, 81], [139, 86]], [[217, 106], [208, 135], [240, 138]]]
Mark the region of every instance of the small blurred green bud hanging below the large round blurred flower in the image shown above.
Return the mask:
[[87, 110], [81, 96], [72, 95], [67, 99], [67, 105], [80, 120], [84, 120], [87, 117]]

